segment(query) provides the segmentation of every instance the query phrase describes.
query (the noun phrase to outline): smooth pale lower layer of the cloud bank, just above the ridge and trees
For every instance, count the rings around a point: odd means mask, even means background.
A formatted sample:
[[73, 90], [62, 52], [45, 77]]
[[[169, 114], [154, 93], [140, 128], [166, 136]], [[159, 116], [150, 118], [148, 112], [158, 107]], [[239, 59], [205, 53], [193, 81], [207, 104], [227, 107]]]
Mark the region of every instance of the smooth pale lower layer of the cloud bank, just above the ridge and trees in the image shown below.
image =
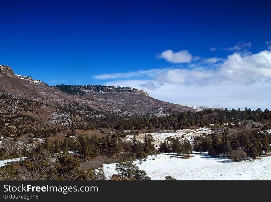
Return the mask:
[[[257, 81], [251, 85], [242, 85], [232, 81], [220, 83], [220, 85], [183, 85], [176, 83], [164, 83], [156, 90], [140, 87], [146, 80], [113, 81], [104, 85], [131, 86], [141, 88], [156, 99], [181, 105], [210, 106], [228, 109], [271, 109], [270, 83]], [[152, 81], [149, 81], [152, 82]], [[153, 81], [155, 83], [155, 81]]]

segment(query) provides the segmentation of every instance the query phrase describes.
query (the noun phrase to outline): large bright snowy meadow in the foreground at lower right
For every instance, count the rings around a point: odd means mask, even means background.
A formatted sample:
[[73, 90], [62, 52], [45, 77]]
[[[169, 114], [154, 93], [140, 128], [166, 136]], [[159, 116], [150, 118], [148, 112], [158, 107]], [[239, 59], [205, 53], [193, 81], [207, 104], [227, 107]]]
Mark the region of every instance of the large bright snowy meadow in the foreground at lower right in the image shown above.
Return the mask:
[[[152, 157], [155, 156], [155, 160]], [[151, 180], [164, 180], [170, 175], [177, 180], [271, 180], [271, 156], [257, 160], [232, 162], [226, 157], [198, 155], [182, 159], [176, 155], [152, 155], [146, 161], [134, 164], [146, 171]], [[103, 164], [109, 179], [115, 171], [115, 163]]]

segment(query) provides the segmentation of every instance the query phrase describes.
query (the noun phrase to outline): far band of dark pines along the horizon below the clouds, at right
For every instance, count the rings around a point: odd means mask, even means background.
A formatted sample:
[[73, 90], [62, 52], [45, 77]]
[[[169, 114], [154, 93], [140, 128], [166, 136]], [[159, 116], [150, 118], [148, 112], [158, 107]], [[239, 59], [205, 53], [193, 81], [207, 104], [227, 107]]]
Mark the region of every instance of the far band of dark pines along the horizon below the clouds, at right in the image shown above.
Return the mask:
[[271, 120], [271, 112], [268, 109], [262, 111], [260, 108], [251, 110], [232, 109], [205, 109], [199, 112], [181, 112], [169, 115], [167, 117], [136, 117], [128, 120], [121, 120], [114, 123], [103, 123], [95, 127], [111, 127], [116, 130], [135, 130], [135, 129], [185, 129], [190, 126], [199, 125], [201, 127], [210, 124], [219, 124], [226, 122], [238, 123], [244, 120], [253, 120], [259, 122], [262, 120]]

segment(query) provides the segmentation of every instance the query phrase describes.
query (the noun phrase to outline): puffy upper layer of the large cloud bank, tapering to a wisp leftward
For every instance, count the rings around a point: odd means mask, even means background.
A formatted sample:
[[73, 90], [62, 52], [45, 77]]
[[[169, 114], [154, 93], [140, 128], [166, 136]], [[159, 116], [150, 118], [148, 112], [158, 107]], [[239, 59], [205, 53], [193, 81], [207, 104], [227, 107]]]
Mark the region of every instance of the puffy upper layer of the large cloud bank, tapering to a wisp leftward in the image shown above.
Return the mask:
[[[222, 81], [249, 84], [259, 79], [271, 79], [271, 51], [265, 50], [256, 54], [233, 53], [226, 59], [208, 58], [199, 63], [190, 64], [189, 68], [151, 69], [95, 76], [96, 79], [138, 79], [146, 77], [157, 82], [186, 85], [210, 85]], [[150, 83], [144, 85], [152, 88]]]

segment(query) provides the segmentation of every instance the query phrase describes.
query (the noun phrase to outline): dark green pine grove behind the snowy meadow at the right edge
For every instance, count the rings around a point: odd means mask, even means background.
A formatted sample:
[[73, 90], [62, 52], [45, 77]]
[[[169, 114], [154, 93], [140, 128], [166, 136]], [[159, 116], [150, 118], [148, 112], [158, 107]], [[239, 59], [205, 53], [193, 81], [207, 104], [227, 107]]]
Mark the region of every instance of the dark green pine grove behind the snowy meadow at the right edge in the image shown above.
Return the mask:
[[194, 150], [207, 152], [209, 155], [224, 155], [231, 157], [232, 151], [243, 150], [247, 156], [257, 156], [270, 152], [271, 134], [265, 131], [257, 133], [256, 130], [242, 132], [236, 135], [204, 134], [194, 138]]

